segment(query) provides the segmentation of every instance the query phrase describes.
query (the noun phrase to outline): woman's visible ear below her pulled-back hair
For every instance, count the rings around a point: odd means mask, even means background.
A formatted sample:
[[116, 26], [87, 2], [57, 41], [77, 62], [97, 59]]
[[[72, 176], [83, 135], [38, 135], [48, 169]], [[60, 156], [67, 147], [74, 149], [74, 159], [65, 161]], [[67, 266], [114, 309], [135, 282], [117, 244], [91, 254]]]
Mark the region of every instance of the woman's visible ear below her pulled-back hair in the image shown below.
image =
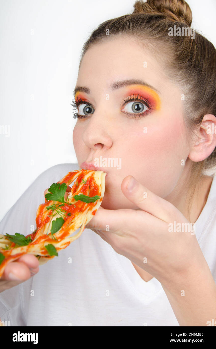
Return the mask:
[[214, 151], [215, 147], [216, 117], [213, 114], [207, 114], [202, 119], [202, 123], [188, 157], [194, 162], [202, 161]]

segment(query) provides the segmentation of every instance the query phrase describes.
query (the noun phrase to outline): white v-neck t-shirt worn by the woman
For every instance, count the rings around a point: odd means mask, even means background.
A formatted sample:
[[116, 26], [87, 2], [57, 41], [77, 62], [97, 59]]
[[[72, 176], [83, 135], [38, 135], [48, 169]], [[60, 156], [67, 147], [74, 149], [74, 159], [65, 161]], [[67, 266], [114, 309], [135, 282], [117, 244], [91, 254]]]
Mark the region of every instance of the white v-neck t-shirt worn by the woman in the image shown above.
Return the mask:
[[[0, 233], [27, 235], [36, 229], [44, 190], [77, 169], [59, 164], [41, 173], [0, 222]], [[216, 176], [195, 226], [216, 281]], [[1, 292], [0, 319], [10, 326], [179, 326], [161, 283], [155, 277], [142, 280], [131, 261], [91, 229], [35, 276]]]

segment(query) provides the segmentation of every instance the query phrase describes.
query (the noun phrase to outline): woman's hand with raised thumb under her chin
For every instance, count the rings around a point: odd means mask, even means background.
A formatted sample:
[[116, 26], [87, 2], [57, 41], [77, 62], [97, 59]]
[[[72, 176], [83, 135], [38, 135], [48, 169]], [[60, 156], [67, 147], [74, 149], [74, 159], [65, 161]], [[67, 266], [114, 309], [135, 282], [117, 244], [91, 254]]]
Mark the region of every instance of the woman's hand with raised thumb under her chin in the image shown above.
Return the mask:
[[[98, 233], [117, 253], [160, 282], [169, 283], [170, 278], [184, 275], [190, 266], [201, 262], [204, 256], [192, 224], [176, 207], [150, 192], [133, 176], [124, 178], [121, 190], [139, 209], [106, 210], [99, 207], [86, 228]], [[180, 223], [180, 231], [186, 227], [186, 232], [170, 231], [169, 224], [174, 225], [174, 221], [176, 225]]]

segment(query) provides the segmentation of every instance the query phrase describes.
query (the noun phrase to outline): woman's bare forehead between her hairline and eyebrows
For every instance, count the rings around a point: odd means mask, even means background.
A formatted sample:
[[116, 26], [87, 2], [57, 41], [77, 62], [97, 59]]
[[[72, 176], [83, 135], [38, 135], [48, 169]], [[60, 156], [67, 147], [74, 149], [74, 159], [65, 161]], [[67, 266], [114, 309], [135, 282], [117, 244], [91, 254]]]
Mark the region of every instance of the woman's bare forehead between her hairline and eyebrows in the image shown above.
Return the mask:
[[84, 54], [76, 85], [108, 88], [113, 81], [142, 79], [160, 90], [166, 76], [147, 48], [131, 38], [118, 37], [92, 45]]

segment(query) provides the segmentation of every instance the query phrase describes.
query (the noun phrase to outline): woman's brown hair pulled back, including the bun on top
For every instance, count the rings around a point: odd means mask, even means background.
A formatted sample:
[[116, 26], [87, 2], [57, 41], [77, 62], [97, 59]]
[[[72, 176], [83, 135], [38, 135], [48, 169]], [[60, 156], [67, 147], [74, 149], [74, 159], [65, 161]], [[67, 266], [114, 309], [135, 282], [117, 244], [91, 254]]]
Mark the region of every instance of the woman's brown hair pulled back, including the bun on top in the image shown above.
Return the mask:
[[[194, 38], [190, 35], [168, 35], [170, 28], [174, 30], [174, 25], [181, 28], [182, 32], [185, 29], [189, 32], [191, 23], [192, 12], [184, 0], [135, 1], [132, 14], [107, 20], [92, 32], [83, 45], [80, 64], [91, 45], [118, 35], [131, 37], [142, 47], [148, 47], [160, 60], [164, 57], [165, 74], [184, 90], [184, 121], [188, 136], [193, 139], [194, 130], [199, 129], [203, 116], [216, 116], [216, 50], [195, 29]], [[199, 191], [204, 174], [214, 176], [215, 170], [216, 148], [206, 159], [194, 162], [191, 166], [190, 178], [186, 184], [188, 211], [195, 189]]]

